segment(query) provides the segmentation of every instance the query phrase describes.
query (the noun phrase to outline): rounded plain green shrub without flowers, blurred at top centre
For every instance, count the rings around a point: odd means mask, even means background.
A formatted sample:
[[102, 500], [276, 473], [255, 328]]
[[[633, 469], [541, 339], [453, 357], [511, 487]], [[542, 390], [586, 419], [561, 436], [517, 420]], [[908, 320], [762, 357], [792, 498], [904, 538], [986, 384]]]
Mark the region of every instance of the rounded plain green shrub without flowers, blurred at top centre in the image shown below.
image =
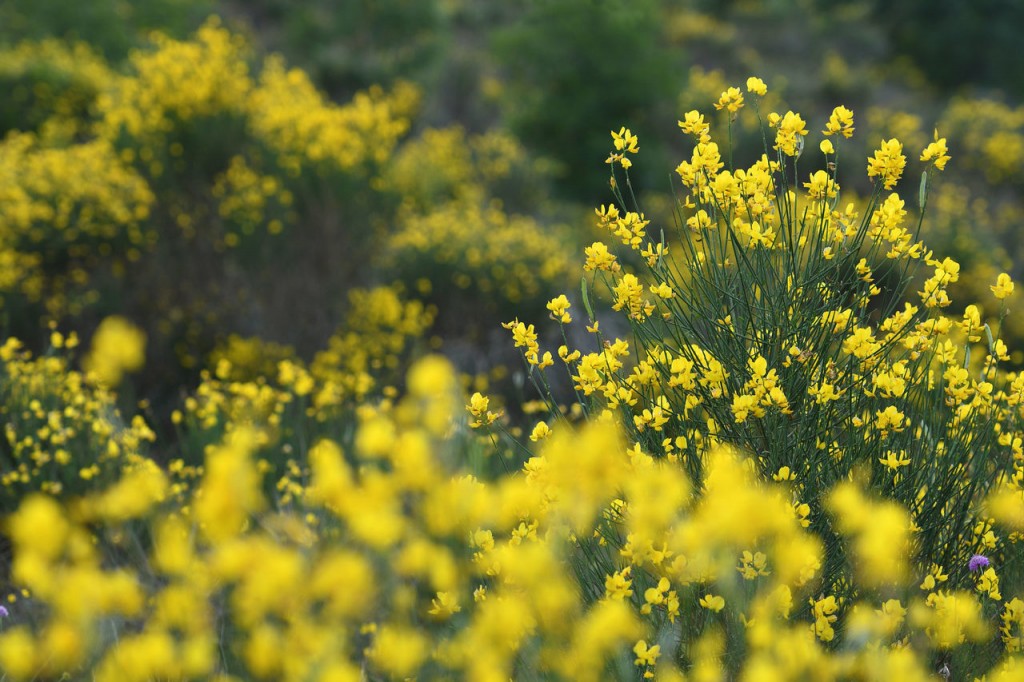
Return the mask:
[[[503, 103], [512, 130], [562, 166], [559, 186], [588, 202], [605, 179], [607, 133], [629, 121], [662, 137], [680, 86], [681, 54], [667, 49], [656, 0], [535, 0], [496, 33], [494, 55], [508, 78]], [[652, 155], [650, 166], [664, 159]], [[649, 178], [665, 184], [663, 175]]]

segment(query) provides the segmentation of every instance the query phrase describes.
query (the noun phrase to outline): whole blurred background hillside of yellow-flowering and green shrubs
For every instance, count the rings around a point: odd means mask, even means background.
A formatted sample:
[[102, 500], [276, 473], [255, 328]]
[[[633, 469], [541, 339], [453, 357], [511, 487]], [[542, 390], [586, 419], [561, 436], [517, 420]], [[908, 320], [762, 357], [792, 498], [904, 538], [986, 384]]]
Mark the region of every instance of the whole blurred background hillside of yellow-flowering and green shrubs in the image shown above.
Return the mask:
[[[724, 129], [708, 102], [750, 75], [769, 86], [762, 114], [793, 109], [820, 129], [835, 105], [854, 110], [850, 201], [869, 193], [863, 159], [883, 137], [908, 156], [936, 128], [949, 139], [924, 238], [962, 261], [970, 300], [1024, 262], [1022, 12], [1006, 0], [8, 0], [2, 331], [45, 351], [53, 325], [87, 341], [103, 316], [128, 316], [150, 339], [134, 395], [164, 423], [182, 385], [218, 380], [218, 365], [226, 380], [236, 355], [328, 353], [357, 367], [330, 390], [357, 394], [394, 370], [344, 356], [367, 301], [424, 306], [429, 324], [388, 357], [443, 340], [466, 371], [500, 365], [499, 323], [539, 322], [577, 288], [593, 208], [610, 200], [607, 131], [639, 134], [634, 187], [671, 226], [675, 121], [700, 108]], [[733, 130], [760, 150], [751, 108]], [[1020, 347], [1024, 329], [1007, 336]]]

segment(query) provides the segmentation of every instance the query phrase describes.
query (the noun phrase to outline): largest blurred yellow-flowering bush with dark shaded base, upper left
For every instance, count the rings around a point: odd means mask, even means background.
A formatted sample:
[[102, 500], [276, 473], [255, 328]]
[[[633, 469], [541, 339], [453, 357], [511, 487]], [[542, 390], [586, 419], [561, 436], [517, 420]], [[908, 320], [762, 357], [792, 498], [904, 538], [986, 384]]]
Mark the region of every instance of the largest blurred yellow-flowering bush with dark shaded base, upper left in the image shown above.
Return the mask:
[[[366, 279], [393, 211], [370, 184], [419, 94], [396, 83], [336, 104], [280, 57], [254, 62], [215, 18], [184, 40], [154, 33], [120, 72], [56, 41], [0, 53], [0, 78], [32, 95], [12, 100], [22, 132], [0, 142], [12, 333], [38, 348], [50, 321], [84, 332], [124, 313], [162, 369], [198, 368], [218, 338], [286, 329], [286, 314], [288, 341], [323, 342], [329, 302]], [[324, 301], [323, 319], [294, 318], [300, 296]]]

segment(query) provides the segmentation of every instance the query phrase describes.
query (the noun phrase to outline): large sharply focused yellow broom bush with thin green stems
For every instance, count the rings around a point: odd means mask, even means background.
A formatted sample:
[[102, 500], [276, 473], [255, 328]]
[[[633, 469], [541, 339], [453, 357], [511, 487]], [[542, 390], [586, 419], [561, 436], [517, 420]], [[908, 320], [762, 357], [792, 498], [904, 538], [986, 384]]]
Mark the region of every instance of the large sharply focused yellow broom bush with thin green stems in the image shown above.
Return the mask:
[[[1016, 532], [1000, 535], [985, 506], [994, 481], [1021, 478], [1015, 443], [1022, 441], [1024, 383], [1002, 369], [1009, 351], [998, 334], [1013, 283], [1002, 273], [991, 286], [992, 324], [983, 322], [980, 305], [943, 314], [959, 266], [934, 255], [921, 233], [931, 184], [949, 159], [945, 139], [936, 136], [918, 155], [925, 164], [914, 197], [922, 217], [907, 224], [904, 200], [892, 191], [907, 165], [896, 138], [883, 139], [868, 159], [874, 188], [858, 212], [840, 199], [852, 112], [834, 111], [815, 154], [805, 144], [802, 117], [762, 115], [764, 84], [751, 79], [748, 90], [756, 118], [774, 129], [770, 148], [753, 165], [734, 167], [710, 122], [686, 114], [679, 125], [693, 147], [676, 169], [682, 187], [674, 230], [652, 227], [632, 207], [632, 195], [616, 191], [616, 204], [598, 209], [599, 224], [645, 266], [632, 271], [603, 242], [587, 249], [582, 302], [597, 350], [563, 345], [557, 361], [539, 346], [534, 326], [519, 321], [508, 326], [515, 345], [553, 407], [547, 373], [556, 369], [546, 368], [563, 365], [579, 403], [571, 414], [620, 422], [637, 453], [678, 465], [703, 495], [714, 476], [711, 454], [723, 444], [748, 453], [758, 479], [787, 492], [788, 516], [820, 543], [810, 546], [802, 581], [788, 585], [804, 592], [806, 605], [792, 615], [811, 622], [807, 646], [814, 638], [842, 641], [847, 652], [892, 645], [934, 654], [953, 670], [981, 670], [977, 655], [989, 650], [992, 632], [985, 622], [1001, 609], [998, 573], [1006, 567], [1016, 574], [1019, 552]], [[730, 88], [715, 106], [731, 128], [745, 104]], [[621, 173], [628, 180], [639, 144], [627, 129], [611, 136], [612, 186], [628, 186]], [[808, 157], [820, 161], [802, 174], [799, 162]], [[594, 313], [601, 292], [629, 318], [632, 343], [604, 337]], [[549, 308], [560, 325], [569, 322], [566, 297]], [[553, 412], [534, 436], [568, 428], [562, 414]], [[631, 511], [628, 498], [616, 508], [627, 518]], [[739, 537], [768, 513], [723, 511], [719, 531]], [[681, 570], [692, 564], [692, 550], [657, 527], [614, 540], [620, 557], [605, 565], [609, 580], [643, 576], [649, 584], [665, 581], [665, 590], [709, 590], [700, 605], [723, 613], [719, 651], [727, 665], [767, 671], [761, 656], [781, 640], [777, 632], [757, 634], [751, 592], [731, 587], [727, 563]], [[765, 549], [762, 540], [735, 548], [744, 578], [760, 580], [773, 561], [784, 562], [784, 552]], [[997, 556], [998, 565], [977, 571], [976, 555]], [[871, 609], [882, 617], [869, 616]], [[942, 622], [953, 613], [963, 621], [949, 629]], [[685, 642], [698, 641], [701, 630], [683, 626], [683, 659], [692, 650]]]

